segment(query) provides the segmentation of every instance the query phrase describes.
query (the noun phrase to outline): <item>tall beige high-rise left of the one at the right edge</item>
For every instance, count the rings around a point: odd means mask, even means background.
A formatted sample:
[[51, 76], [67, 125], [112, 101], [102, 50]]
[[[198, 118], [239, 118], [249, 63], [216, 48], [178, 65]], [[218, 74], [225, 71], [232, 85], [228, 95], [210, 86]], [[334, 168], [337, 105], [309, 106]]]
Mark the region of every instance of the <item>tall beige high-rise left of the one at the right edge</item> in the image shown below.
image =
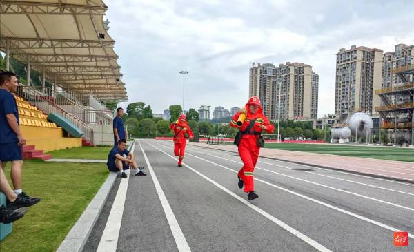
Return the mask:
[[337, 53], [335, 114], [344, 120], [353, 112], [375, 114], [380, 97], [375, 90], [382, 83], [382, 53], [376, 48], [352, 45]]

